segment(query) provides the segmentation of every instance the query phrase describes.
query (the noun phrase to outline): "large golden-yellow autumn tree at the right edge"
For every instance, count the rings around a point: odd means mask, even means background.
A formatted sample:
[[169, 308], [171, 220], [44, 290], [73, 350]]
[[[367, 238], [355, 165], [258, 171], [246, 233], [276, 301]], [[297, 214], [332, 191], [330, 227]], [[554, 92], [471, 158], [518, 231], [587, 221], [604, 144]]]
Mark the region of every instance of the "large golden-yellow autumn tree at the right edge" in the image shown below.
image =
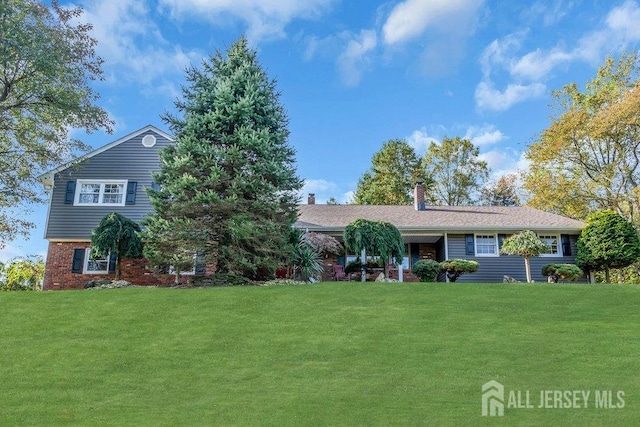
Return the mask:
[[613, 209], [640, 219], [640, 58], [609, 57], [584, 90], [554, 92], [559, 113], [526, 153], [533, 207], [584, 219]]

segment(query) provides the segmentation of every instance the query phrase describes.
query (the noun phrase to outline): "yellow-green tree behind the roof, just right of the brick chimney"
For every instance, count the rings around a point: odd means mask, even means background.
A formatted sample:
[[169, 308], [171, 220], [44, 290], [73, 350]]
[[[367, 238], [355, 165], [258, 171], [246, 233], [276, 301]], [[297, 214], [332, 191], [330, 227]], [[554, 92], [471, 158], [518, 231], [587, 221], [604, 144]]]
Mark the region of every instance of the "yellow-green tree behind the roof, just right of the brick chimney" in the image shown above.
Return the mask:
[[432, 142], [425, 153], [423, 166], [433, 180], [431, 199], [448, 206], [474, 204], [476, 193], [489, 176], [487, 162], [478, 158], [480, 151], [468, 139], [444, 138]]

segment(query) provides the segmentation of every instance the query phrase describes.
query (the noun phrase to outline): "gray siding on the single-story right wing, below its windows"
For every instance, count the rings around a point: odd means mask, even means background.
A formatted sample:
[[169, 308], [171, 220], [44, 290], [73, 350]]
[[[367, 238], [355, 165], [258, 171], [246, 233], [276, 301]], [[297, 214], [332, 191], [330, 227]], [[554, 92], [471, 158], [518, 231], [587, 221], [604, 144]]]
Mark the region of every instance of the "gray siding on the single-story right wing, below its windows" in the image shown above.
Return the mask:
[[[472, 233], [469, 233], [472, 234]], [[491, 233], [487, 233], [491, 234]], [[540, 232], [540, 234], [545, 234]], [[549, 234], [558, 234], [550, 232]], [[562, 257], [533, 257], [531, 258], [531, 278], [536, 282], [546, 282], [547, 278], [541, 274], [542, 267], [546, 264], [563, 263], [574, 264], [576, 255], [577, 235], [570, 235], [571, 256]], [[480, 264], [478, 271], [471, 274], [464, 274], [458, 279], [459, 282], [502, 282], [505, 275], [511, 276], [521, 282], [527, 281], [524, 268], [524, 259], [517, 255], [500, 256], [470, 256], [466, 254], [465, 235], [449, 234], [449, 259], [461, 258], [477, 261]]]

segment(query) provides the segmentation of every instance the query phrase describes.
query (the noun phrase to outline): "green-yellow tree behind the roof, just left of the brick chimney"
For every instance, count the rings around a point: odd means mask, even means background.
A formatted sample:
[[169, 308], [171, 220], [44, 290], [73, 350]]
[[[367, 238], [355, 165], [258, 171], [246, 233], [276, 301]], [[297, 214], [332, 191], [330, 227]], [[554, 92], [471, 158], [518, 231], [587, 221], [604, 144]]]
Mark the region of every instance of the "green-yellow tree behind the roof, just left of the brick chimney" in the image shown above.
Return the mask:
[[420, 159], [406, 141], [392, 139], [371, 159], [371, 169], [358, 180], [354, 203], [359, 205], [410, 205], [413, 186], [421, 181], [429, 187]]

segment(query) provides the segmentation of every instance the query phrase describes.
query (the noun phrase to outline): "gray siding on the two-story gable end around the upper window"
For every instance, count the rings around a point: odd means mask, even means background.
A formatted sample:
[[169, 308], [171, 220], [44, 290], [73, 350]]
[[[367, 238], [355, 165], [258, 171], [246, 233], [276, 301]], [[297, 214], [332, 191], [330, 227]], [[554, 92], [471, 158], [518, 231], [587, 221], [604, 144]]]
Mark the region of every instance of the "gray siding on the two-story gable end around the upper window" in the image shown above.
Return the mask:
[[[153, 134], [156, 144], [142, 145], [145, 135]], [[56, 173], [49, 208], [45, 239], [78, 239], [91, 237], [91, 230], [108, 213], [118, 212], [140, 221], [153, 209], [145, 188], [152, 183], [151, 171], [160, 167], [158, 150], [173, 142], [151, 130], [126, 140], [102, 153]], [[68, 181], [77, 179], [118, 179], [137, 182], [136, 200], [130, 206], [74, 206], [65, 204]]]

